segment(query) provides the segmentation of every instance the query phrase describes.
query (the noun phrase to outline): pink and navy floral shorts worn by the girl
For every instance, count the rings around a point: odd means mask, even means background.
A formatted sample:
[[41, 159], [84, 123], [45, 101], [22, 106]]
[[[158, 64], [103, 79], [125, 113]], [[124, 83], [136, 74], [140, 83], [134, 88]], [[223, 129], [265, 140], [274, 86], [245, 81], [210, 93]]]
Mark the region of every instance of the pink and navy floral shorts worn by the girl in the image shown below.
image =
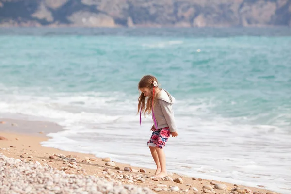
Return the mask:
[[169, 127], [154, 129], [147, 146], [163, 149], [171, 135]]

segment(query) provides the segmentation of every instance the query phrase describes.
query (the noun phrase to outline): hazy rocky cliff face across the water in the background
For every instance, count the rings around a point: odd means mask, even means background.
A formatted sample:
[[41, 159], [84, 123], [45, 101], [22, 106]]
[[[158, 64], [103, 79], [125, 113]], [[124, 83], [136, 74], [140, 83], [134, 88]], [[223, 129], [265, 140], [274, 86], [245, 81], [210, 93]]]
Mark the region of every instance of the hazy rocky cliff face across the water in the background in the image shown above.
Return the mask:
[[291, 26], [291, 0], [0, 0], [0, 26]]

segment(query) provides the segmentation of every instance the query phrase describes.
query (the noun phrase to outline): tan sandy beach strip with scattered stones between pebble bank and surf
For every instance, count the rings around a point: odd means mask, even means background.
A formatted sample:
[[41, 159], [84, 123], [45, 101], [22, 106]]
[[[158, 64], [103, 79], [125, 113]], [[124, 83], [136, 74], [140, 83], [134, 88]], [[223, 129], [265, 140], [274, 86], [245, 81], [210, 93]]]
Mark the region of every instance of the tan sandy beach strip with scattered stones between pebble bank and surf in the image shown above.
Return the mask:
[[[189, 194], [275, 194], [275, 192], [264, 190], [264, 188], [245, 187], [200, 179], [199, 177], [187, 177], [176, 173], [169, 173], [169, 176], [164, 179], [153, 178], [153, 169], [114, 162], [110, 158], [101, 159], [90, 154], [67, 152], [41, 146], [41, 142], [48, 140], [46, 134], [59, 130], [62, 130], [60, 126], [50, 122], [0, 119], [0, 153], [24, 162], [48, 165], [68, 174], [93, 175], [103, 177], [108, 181], [148, 187], [161, 194], [177, 192]], [[223, 189], [216, 189], [219, 187]]]

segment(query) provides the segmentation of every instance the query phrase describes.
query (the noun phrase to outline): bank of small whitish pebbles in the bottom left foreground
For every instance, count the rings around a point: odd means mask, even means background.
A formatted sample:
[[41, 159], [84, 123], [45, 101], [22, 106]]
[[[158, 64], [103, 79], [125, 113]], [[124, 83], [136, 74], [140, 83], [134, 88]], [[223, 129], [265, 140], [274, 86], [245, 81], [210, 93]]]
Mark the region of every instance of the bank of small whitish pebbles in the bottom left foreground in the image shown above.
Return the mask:
[[[65, 167], [64, 167], [65, 169]], [[67, 174], [49, 166], [17, 162], [0, 154], [0, 193], [81, 193], [81, 194], [154, 194], [149, 188], [136, 185], [122, 185], [116, 181], [83, 174]], [[13, 183], [13, 184], [12, 184]], [[17, 183], [17, 184], [14, 184]]]

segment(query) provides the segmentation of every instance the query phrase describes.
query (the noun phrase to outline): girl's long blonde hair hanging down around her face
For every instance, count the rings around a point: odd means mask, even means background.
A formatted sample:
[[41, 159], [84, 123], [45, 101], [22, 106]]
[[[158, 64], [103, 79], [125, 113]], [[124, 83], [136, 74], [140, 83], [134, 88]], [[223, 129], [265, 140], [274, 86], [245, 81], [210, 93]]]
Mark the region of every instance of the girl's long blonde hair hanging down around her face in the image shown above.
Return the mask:
[[[146, 114], [150, 114], [152, 112], [152, 107], [155, 106], [156, 104], [156, 98], [153, 96], [153, 90], [156, 88], [153, 85], [153, 82], [156, 81], [158, 83], [158, 80], [156, 77], [151, 76], [151, 75], [146, 75], [144, 76], [138, 83], [138, 89], [141, 88], [149, 88], [150, 92], [147, 97], [146, 101], [146, 96], [144, 93], [141, 93], [139, 98], [138, 98], [138, 106], [137, 106], [137, 112], [144, 112]], [[156, 94], [155, 94], [156, 96]], [[154, 98], [154, 100], [153, 100]]]

